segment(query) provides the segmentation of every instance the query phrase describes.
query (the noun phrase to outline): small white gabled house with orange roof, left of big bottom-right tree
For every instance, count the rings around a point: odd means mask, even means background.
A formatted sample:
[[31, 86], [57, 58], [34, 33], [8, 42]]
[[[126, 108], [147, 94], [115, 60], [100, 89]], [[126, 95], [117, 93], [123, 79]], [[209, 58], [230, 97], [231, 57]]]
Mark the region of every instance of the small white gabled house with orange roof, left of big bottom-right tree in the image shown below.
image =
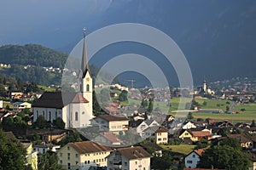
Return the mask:
[[185, 157], [185, 167], [195, 168], [201, 159], [203, 149], [193, 150]]

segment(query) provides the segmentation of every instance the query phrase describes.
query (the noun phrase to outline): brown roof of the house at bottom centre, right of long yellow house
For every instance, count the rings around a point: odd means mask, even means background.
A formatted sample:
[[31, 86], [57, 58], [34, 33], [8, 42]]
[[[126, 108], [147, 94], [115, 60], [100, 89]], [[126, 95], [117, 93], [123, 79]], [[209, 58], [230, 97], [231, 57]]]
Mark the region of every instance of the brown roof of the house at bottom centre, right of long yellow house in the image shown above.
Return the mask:
[[129, 160], [151, 157], [151, 155], [146, 150], [144, 150], [141, 146], [120, 148], [117, 150], [119, 151], [120, 154], [122, 154]]

